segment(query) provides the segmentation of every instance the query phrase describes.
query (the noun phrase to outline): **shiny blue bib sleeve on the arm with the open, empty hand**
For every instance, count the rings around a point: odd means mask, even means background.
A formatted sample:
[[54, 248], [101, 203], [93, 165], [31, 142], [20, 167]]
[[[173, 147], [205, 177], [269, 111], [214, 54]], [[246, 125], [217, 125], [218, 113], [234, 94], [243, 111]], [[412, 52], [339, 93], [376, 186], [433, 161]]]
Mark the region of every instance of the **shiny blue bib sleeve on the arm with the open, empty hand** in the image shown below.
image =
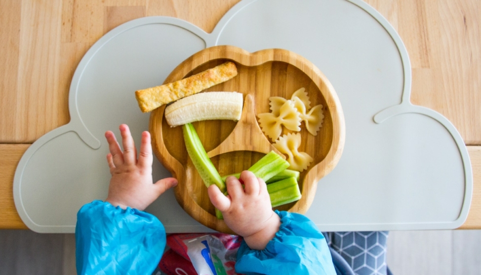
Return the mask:
[[166, 246], [166, 232], [152, 214], [100, 200], [84, 205], [75, 227], [80, 274], [151, 274]]

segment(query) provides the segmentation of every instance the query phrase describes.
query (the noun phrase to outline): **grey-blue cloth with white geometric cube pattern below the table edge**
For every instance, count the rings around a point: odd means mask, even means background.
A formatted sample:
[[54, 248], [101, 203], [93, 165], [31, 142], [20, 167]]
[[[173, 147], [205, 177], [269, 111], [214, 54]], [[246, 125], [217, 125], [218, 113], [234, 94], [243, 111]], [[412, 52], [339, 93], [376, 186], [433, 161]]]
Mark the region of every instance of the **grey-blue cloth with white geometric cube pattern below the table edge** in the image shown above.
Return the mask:
[[356, 275], [386, 275], [388, 231], [327, 232], [331, 249], [339, 253]]

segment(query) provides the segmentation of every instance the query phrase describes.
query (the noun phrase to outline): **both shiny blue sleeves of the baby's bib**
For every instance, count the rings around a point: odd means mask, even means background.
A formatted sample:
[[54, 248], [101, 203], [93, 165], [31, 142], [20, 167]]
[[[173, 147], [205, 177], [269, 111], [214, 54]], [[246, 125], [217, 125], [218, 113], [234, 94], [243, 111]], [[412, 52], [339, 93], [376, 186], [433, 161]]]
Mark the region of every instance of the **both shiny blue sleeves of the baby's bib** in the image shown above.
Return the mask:
[[[336, 271], [323, 234], [304, 215], [276, 211], [280, 228], [264, 250], [243, 241], [237, 273], [329, 274]], [[153, 215], [93, 201], [77, 213], [78, 274], [151, 274], [166, 246], [166, 232]]]

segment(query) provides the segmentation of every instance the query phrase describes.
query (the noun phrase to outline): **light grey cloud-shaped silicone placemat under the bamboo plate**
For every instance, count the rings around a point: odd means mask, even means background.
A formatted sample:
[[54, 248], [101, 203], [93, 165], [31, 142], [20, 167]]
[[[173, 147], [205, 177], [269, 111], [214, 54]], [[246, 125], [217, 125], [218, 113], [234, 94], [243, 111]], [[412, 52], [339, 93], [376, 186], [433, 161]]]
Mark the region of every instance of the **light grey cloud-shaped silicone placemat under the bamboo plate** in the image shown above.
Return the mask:
[[[355, 0], [244, 0], [210, 34], [167, 17], [107, 33], [75, 71], [69, 124], [39, 138], [20, 160], [14, 199], [23, 222], [36, 232], [73, 232], [79, 207], [106, 196], [103, 133], [127, 123], [138, 145], [148, 129], [133, 91], [161, 84], [191, 54], [221, 44], [294, 51], [335, 87], [346, 120], [344, 153], [319, 181], [307, 212], [322, 230], [449, 229], [464, 222], [472, 172], [462, 138], [443, 116], [409, 102], [406, 48], [379, 13]], [[157, 161], [153, 170], [154, 179], [169, 176]], [[147, 211], [168, 232], [209, 231], [172, 192]]]

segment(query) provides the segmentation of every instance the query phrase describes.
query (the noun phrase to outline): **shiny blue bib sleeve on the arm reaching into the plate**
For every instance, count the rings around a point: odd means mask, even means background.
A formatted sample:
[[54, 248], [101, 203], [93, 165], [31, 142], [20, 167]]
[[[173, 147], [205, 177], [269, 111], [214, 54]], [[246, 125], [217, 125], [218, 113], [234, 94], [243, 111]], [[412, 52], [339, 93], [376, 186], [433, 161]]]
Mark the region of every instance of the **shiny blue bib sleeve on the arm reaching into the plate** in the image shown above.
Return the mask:
[[243, 241], [237, 251], [235, 271], [245, 274], [336, 275], [324, 235], [304, 215], [275, 211], [280, 228], [264, 250]]

